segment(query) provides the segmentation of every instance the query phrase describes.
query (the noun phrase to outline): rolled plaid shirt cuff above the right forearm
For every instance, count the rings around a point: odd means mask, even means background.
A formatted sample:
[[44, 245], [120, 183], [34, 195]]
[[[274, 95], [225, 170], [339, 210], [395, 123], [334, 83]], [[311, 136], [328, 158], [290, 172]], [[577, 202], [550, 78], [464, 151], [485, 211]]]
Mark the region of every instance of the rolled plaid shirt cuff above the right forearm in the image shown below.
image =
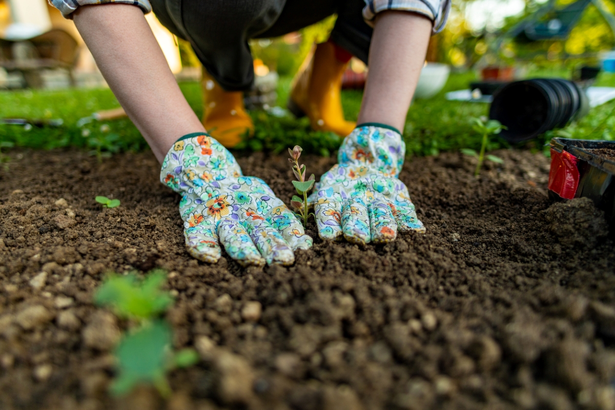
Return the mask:
[[373, 26], [376, 14], [385, 10], [403, 10], [414, 12], [429, 18], [434, 22], [433, 34], [444, 30], [451, 0], [365, 0], [363, 18], [368, 25]]

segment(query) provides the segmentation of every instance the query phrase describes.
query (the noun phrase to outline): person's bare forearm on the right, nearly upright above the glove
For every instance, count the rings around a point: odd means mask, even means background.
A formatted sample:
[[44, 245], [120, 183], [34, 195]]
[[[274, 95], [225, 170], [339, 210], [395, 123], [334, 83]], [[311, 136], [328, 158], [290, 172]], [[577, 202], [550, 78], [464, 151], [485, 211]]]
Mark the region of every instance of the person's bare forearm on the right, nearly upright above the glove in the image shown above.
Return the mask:
[[378, 122], [403, 132], [431, 29], [431, 21], [418, 14], [378, 14], [370, 45], [370, 72], [357, 124]]

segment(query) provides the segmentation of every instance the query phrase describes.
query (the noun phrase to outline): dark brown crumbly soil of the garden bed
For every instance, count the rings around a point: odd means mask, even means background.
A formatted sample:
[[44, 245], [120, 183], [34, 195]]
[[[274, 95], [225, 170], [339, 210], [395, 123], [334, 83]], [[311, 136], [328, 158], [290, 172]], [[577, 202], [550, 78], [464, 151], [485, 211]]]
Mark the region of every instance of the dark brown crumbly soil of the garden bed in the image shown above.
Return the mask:
[[[179, 197], [151, 154], [98, 165], [78, 151], [10, 152], [0, 408], [615, 409], [603, 215], [586, 199], [552, 205], [540, 154], [496, 154], [504, 165], [480, 179], [459, 154], [407, 163], [424, 235], [363, 248], [316, 239], [295, 266], [244, 269], [186, 253]], [[239, 162], [290, 199], [284, 157]], [[320, 175], [334, 160], [305, 162]], [[95, 195], [122, 205], [103, 210]], [[169, 401], [149, 388], [113, 400], [109, 352], [126, 323], [96, 309], [93, 290], [107, 270], [154, 267], [177, 295], [175, 347], [202, 361], [170, 374]]]

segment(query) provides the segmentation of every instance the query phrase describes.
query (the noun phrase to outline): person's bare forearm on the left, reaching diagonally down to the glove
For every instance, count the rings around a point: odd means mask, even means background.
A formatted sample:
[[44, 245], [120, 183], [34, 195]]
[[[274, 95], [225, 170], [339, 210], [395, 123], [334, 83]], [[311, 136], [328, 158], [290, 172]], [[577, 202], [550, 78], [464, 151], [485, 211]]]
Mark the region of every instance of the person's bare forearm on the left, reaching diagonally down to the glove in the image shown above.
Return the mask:
[[117, 100], [159, 161], [183, 135], [203, 132], [141, 9], [82, 6], [74, 22]]

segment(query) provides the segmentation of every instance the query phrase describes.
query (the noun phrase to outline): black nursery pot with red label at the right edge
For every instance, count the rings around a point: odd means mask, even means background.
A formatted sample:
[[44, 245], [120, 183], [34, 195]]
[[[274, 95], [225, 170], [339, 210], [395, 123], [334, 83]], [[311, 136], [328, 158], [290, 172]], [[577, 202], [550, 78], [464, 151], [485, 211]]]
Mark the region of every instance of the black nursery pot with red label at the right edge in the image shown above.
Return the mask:
[[615, 142], [553, 138], [549, 197], [587, 197], [615, 228]]

